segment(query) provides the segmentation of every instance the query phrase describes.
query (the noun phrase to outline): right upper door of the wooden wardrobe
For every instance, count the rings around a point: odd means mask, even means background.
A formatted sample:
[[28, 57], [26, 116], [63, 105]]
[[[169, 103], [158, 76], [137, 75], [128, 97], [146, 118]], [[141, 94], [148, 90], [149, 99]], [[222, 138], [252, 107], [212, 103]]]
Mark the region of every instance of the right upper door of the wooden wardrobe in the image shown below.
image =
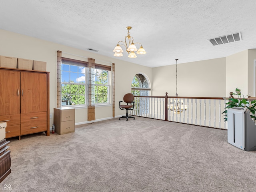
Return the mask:
[[20, 72], [21, 113], [47, 111], [47, 76], [45, 73]]

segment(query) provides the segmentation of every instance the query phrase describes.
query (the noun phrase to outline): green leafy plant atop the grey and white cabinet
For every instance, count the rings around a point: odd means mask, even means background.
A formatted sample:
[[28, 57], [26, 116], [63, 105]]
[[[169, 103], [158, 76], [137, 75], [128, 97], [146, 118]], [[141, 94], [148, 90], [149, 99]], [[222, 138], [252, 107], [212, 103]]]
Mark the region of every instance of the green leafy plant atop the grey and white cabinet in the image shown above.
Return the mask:
[[[256, 112], [256, 100], [249, 100], [249, 98], [244, 98], [244, 95], [241, 96], [241, 90], [236, 88], [236, 93], [230, 92], [230, 95], [236, 95], [238, 98], [226, 98], [223, 97], [224, 100], [228, 100], [226, 103], [225, 111], [222, 112], [224, 114], [224, 120], [228, 120], [228, 108], [233, 108], [233, 107], [244, 107], [248, 108], [251, 112], [251, 118], [256, 120], [255, 112]], [[246, 95], [245, 97], [247, 97]]]

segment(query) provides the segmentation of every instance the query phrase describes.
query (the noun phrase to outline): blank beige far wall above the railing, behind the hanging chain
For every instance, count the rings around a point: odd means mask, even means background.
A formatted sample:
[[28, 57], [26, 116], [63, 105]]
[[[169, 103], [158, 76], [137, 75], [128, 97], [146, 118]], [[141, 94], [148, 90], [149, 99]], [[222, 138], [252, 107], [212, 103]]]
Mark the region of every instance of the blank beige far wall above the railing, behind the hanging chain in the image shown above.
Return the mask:
[[[225, 58], [178, 63], [178, 96], [225, 96]], [[175, 96], [176, 64], [152, 69], [152, 95]]]

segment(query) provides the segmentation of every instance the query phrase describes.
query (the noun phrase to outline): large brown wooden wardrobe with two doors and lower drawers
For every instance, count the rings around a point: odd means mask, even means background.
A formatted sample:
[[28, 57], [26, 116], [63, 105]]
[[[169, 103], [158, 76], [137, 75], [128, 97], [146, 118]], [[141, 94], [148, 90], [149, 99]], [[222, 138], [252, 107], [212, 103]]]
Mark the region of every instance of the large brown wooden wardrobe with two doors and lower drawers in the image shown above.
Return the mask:
[[0, 108], [6, 138], [37, 132], [50, 136], [49, 72], [0, 68]]

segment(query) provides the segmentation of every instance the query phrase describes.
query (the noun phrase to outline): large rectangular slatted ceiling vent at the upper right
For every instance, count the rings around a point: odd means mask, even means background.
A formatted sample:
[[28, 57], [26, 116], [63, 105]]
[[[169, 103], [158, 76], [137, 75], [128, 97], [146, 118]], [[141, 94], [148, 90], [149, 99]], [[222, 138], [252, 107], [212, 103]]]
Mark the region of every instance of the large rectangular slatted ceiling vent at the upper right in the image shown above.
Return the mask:
[[213, 46], [225, 44], [225, 43], [231, 43], [234, 41], [241, 41], [241, 40], [242, 40], [241, 32], [209, 39], [210, 43]]

